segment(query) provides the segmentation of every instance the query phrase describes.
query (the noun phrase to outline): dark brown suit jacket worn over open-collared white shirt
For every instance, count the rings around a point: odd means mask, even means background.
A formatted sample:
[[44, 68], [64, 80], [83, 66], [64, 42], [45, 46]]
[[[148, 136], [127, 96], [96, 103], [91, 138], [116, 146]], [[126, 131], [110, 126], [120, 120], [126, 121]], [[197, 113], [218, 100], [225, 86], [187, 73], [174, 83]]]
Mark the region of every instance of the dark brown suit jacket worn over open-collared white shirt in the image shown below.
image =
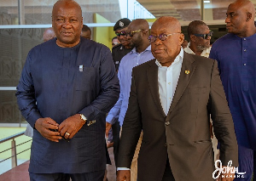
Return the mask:
[[234, 125], [215, 60], [184, 53], [167, 116], [160, 103], [155, 59], [135, 67], [120, 140], [118, 167], [131, 167], [143, 129], [138, 181], [161, 180], [167, 156], [175, 180], [213, 180], [215, 168], [210, 114], [214, 133], [221, 144], [220, 160], [223, 165], [232, 160], [233, 166], [237, 166]]

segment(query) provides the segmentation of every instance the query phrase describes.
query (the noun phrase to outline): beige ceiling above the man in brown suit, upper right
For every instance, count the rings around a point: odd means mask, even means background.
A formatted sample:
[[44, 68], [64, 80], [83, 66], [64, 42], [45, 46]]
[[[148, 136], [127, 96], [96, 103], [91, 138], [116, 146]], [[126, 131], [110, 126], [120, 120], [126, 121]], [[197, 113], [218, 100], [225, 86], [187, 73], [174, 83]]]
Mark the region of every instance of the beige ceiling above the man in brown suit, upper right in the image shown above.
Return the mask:
[[[223, 20], [226, 17], [226, 10], [234, 0], [210, 0], [209, 3], [202, 3], [203, 0], [137, 0], [147, 8], [148, 11], [159, 18], [168, 15], [181, 21], [191, 20]], [[256, 0], [252, 0], [254, 7]], [[203, 11], [201, 11], [203, 9]], [[203, 14], [203, 19], [201, 18]]]

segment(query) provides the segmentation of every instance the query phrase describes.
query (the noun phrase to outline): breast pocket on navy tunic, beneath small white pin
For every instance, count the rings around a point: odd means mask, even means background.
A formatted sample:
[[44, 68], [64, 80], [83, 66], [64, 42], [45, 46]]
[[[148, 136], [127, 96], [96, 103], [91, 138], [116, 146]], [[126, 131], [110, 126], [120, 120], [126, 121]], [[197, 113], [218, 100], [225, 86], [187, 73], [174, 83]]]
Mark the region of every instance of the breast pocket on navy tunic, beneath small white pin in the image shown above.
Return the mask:
[[76, 72], [76, 90], [90, 91], [96, 85], [96, 69], [93, 67], [84, 67], [83, 71]]

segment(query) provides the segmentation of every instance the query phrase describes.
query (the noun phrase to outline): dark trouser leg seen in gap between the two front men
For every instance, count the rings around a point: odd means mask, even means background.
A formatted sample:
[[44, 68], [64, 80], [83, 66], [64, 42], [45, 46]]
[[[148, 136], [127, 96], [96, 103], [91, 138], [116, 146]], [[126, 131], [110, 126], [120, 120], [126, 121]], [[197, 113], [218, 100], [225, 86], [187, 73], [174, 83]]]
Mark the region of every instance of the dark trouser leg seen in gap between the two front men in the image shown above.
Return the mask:
[[118, 118], [116, 118], [116, 122], [112, 125], [112, 132], [113, 132], [113, 156], [115, 165], [118, 163], [118, 156], [119, 156], [119, 139], [120, 139], [120, 124]]

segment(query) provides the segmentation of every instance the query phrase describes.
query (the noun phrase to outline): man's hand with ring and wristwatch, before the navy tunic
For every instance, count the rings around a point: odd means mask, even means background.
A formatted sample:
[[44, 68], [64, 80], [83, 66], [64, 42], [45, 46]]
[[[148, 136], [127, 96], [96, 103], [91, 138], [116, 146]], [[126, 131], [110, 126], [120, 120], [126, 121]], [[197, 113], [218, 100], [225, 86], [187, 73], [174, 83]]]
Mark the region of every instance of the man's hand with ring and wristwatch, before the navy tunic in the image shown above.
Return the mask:
[[84, 124], [84, 120], [81, 120], [80, 115], [76, 114], [74, 116], [67, 117], [66, 120], [61, 122], [59, 132], [65, 139], [72, 139]]

